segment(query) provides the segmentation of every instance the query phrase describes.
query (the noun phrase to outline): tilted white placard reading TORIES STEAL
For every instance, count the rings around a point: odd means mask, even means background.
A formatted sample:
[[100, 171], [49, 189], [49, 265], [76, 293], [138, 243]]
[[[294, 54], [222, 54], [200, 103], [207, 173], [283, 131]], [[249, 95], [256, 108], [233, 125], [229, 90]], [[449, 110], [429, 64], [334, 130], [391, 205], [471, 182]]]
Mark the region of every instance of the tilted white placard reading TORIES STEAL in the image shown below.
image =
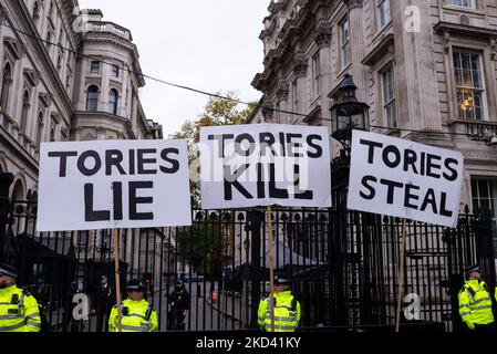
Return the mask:
[[460, 153], [354, 131], [351, 159], [349, 209], [457, 226]]

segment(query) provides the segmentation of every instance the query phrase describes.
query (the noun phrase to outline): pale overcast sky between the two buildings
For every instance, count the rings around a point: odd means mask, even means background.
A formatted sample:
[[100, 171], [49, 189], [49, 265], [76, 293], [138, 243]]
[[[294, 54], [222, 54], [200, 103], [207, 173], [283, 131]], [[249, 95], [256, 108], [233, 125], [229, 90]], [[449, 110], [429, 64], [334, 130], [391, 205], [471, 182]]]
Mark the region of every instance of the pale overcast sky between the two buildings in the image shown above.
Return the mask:
[[[79, 0], [101, 9], [104, 21], [132, 31], [145, 74], [203, 91], [236, 91], [258, 101], [251, 87], [263, 70], [259, 33], [269, 0]], [[196, 118], [208, 97], [151, 80], [141, 92], [145, 114], [167, 136]]]

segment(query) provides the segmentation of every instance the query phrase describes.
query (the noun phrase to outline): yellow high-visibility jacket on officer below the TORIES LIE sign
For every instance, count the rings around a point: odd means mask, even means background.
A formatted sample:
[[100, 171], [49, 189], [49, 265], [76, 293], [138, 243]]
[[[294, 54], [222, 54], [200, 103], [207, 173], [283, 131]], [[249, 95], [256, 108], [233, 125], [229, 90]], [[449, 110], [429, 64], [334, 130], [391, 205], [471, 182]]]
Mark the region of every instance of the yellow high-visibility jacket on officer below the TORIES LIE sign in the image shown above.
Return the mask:
[[[154, 332], [157, 329], [157, 313], [145, 299], [141, 301], [126, 299], [122, 302], [121, 309], [122, 332]], [[117, 305], [114, 305], [108, 316], [108, 332], [118, 332], [117, 322]]]

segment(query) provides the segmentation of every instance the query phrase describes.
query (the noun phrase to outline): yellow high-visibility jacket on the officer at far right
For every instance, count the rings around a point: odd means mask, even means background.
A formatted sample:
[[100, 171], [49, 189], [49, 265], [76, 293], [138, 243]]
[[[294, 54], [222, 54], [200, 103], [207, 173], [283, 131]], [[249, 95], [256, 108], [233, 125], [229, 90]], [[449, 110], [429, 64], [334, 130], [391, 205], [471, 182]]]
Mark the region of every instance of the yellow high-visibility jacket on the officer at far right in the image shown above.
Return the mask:
[[494, 322], [491, 298], [484, 281], [468, 280], [459, 291], [459, 315], [469, 330]]

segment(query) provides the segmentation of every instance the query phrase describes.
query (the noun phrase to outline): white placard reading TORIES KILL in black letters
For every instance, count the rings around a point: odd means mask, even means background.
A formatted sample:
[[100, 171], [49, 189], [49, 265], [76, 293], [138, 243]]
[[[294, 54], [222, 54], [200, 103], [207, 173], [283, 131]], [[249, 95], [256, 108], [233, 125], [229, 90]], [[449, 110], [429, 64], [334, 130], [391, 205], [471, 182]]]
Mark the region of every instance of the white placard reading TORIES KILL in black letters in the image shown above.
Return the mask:
[[328, 131], [276, 124], [201, 128], [201, 207], [330, 207]]

